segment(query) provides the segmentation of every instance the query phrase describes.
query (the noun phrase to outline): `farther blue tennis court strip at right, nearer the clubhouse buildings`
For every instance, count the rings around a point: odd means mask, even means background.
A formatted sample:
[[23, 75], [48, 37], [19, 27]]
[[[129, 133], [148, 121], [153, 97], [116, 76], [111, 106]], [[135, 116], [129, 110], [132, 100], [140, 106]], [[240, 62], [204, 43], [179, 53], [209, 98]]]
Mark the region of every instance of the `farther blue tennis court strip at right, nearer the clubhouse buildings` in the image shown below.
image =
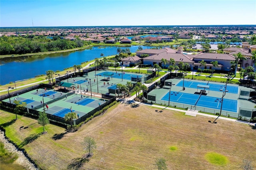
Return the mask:
[[[184, 87], [190, 87], [197, 89], [197, 85], [209, 85], [211, 91], [220, 91], [220, 89], [224, 89], [225, 85], [220, 84], [213, 84], [213, 83], [202, 83], [202, 82], [196, 82], [196, 81], [184, 81]], [[183, 87], [183, 80], [180, 81], [176, 86]], [[202, 89], [198, 87], [198, 89]], [[236, 86], [229, 86], [227, 85], [227, 93], [235, 93], [238, 94], [238, 87]]]

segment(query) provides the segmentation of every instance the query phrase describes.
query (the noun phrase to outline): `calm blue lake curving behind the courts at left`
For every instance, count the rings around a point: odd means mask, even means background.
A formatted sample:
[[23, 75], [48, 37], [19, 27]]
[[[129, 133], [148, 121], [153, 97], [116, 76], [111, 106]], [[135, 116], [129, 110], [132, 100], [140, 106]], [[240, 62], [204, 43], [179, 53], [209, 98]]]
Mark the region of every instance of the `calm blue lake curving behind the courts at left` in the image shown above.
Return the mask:
[[[121, 49], [129, 48], [132, 53], [137, 51], [138, 45], [130, 47], [120, 47]], [[0, 84], [5, 85], [9, 82], [29, 79], [36, 75], [46, 74], [47, 70], [60, 70], [80, 65], [82, 62], [100, 58], [104, 56], [116, 55], [118, 47], [106, 47], [86, 49], [83, 51], [62, 52], [44, 55], [42, 57], [26, 58], [15, 57], [0, 60]], [[150, 46], [142, 46], [143, 49], [150, 49]]]

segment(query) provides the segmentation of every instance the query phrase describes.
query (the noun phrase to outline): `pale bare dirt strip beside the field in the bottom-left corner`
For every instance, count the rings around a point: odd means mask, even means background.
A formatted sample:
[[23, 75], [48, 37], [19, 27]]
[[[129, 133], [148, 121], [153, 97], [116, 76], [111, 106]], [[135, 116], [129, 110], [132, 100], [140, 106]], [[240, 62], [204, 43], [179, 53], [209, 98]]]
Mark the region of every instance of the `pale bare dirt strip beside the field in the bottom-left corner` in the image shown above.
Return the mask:
[[26, 170], [38, 170], [34, 166], [33, 163], [31, 163], [28, 158], [23, 154], [22, 151], [18, 150], [12, 143], [10, 143], [4, 136], [4, 132], [0, 130], [0, 141], [4, 143], [4, 148], [8, 150], [9, 152], [14, 152], [18, 154], [18, 159], [14, 162], [15, 164], [19, 164], [21, 166], [24, 166]]

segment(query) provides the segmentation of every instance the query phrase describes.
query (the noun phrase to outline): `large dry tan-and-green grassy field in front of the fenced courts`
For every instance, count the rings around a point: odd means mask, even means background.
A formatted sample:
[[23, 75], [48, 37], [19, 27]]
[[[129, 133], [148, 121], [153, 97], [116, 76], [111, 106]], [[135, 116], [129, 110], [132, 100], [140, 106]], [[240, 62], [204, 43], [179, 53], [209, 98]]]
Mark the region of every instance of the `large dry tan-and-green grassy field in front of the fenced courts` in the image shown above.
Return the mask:
[[42, 135], [36, 120], [19, 116], [12, 122], [15, 115], [3, 111], [0, 123], [6, 135], [43, 169], [78, 165], [85, 136], [93, 137], [97, 148], [81, 169], [154, 169], [160, 157], [166, 159], [168, 169], [240, 169], [243, 159], [252, 160], [256, 167], [256, 131], [252, 127], [220, 119], [210, 124], [213, 118], [156, 110], [160, 109], [118, 104], [73, 133], [47, 125], [48, 133]]

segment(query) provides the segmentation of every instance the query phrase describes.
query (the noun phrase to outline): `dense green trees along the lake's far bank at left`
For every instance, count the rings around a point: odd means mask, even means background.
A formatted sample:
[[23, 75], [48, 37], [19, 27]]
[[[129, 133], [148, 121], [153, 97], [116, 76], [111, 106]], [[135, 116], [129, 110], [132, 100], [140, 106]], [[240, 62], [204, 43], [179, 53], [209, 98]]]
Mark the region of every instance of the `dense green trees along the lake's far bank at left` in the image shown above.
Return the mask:
[[88, 45], [91, 42], [82, 41], [79, 38], [76, 40], [66, 40], [61, 36], [54, 36], [52, 39], [45, 36], [2, 36], [0, 37], [0, 54], [26, 54], [39, 53], [46, 51], [58, 51], [72, 49]]

